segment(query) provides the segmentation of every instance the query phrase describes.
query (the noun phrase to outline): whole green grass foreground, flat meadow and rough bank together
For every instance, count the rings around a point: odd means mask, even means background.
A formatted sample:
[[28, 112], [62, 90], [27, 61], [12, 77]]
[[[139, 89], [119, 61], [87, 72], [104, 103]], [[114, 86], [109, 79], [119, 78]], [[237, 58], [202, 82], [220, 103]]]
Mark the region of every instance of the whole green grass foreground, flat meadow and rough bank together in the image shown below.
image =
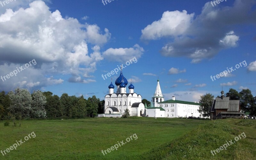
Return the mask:
[[[253, 159], [256, 157], [256, 121], [196, 120], [179, 118], [88, 118], [76, 120], [26, 120], [21, 126], [0, 122], [0, 150], [34, 132], [36, 137], [0, 159]], [[11, 121], [9, 121], [11, 124]], [[19, 122], [18, 122], [19, 123]], [[244, 132], [237, 141], [212, 156], [217, 149]], [[103, 155], [122, 140], [123, 146]], [[32, 134], [31, 134], [32, 135]]]

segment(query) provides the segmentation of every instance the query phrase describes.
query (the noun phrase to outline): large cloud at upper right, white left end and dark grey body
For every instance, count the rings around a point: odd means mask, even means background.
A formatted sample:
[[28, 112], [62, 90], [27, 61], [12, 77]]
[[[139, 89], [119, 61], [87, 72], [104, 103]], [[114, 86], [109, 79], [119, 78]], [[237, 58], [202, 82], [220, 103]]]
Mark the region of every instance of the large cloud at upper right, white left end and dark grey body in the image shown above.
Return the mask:
[[[212, 7], [207, 2], [199, 15], [187, 11], [164, 12], [162, 18], [142, 30], [142, 39], [167, 37], [160, 53], [169, 57], [188, 57], [191, 63], [211, 59], [221, 50], [236, 47], [237, 25], [256, 24], [254, 0], [235, 0], [233, 6]], [[182, 25], [182, 27], [180, 27]]]

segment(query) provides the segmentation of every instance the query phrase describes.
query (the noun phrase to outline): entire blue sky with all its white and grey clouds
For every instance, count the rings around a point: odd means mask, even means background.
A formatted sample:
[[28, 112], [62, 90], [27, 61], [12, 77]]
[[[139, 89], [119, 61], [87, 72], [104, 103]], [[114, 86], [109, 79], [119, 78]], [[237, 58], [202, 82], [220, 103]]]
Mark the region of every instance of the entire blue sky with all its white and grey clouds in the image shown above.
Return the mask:
[[165, 100], [256, 96], [255, 0], [108, 1], [1, 0], [0, 91], [104, 100], [123, 64], [149, 101], [157, 79]]

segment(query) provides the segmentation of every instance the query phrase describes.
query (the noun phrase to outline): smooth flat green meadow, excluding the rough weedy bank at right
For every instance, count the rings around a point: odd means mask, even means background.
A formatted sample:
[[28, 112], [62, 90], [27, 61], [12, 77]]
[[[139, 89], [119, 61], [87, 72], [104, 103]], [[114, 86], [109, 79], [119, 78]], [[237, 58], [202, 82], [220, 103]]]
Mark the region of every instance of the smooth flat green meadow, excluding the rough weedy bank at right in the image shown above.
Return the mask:
[[[5, 121], [4, 121], [5, 122]], [[76, 120], [26, 120], [21, 127], [4, 127], [0, 122], [0, 150], [34, 132], [35, 138], [0, 159], [144, 159], [145, 153], [184, 137], [207, 120], [178, 118], [88, 118]], [[11, 121], [10, 121], [11, 123]], [[19, 123], [19, 122], [18, 122]], [[101, 150], [133, 134], [137, 140], [103, 156]]]

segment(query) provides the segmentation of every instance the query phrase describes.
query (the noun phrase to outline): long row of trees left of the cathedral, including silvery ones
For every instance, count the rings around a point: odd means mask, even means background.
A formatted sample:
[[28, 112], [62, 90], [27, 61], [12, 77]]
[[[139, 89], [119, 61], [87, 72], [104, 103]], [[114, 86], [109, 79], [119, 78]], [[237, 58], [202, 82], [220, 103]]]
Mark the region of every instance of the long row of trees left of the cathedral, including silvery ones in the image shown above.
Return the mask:
[[0, 93], [0, 119], [30, 118], [85, 118], [104, 113], [105, 100], [84, 96], [69, 96], [63, 93], [60, 97], [52, 92], [33, 91], [15, 88], [6, 94]]

